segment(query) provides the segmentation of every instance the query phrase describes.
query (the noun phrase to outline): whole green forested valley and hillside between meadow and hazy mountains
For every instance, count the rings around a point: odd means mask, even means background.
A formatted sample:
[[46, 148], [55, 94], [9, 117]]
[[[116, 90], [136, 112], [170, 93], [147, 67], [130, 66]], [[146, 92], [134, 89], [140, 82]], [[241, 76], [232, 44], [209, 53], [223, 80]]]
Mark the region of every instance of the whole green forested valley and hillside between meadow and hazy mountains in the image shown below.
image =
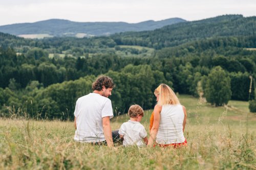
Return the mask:
[[256, 17], [223, 15], [91, 38], [0, 33], [0, 116], [73, 120], [99, 75], [114, 80], [115, 115], [132, 104], [152, 109], [160, 83], [215, 106], [253, 100], [255, 32]]

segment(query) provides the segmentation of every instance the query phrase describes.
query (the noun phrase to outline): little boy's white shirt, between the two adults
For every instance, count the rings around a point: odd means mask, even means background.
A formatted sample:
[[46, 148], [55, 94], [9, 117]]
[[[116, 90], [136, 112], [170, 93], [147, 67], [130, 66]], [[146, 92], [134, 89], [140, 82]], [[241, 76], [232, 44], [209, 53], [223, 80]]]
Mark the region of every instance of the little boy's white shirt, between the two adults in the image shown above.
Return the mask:
[[143, 125], [139, 122], [128, 120], [121, 125], [118, 133], [123, 135], [123, 145], [144, 145], [142, 138], [145, 138], [147, 133]]

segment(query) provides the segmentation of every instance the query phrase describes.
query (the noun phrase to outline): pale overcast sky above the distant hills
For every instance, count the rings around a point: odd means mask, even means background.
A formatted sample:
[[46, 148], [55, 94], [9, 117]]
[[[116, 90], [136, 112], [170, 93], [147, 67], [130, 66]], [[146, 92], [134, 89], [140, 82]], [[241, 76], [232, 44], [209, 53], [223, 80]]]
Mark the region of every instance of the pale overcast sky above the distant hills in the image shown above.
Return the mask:
[[53, 18], [137, 23], [179, 17], [193, 21], [225, 14], [256, 16], [256, 0], [0, 0], [0, 26]]

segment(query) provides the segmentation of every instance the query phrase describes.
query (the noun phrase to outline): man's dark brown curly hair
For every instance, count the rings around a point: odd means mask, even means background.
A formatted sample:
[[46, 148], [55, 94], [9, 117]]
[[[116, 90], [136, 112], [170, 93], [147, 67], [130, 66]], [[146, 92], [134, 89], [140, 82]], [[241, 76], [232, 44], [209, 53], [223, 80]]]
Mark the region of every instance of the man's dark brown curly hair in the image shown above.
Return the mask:
[[113, 88], [115, 87], [113, 80], [108, 76], [100, 76], [97, 78], [95, 82], [92, 84], [92, 90], [102, 90], [102, 86], [105, 88]]

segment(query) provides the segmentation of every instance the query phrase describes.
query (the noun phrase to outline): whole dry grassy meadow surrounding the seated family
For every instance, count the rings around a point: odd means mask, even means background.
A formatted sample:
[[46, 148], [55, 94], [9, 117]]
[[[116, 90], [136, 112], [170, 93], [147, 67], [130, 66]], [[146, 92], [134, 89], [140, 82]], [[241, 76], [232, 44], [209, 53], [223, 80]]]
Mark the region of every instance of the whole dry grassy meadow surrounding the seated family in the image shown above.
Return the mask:
[[[212, 107], [189, 95], [179, 96], [187, 109], [188, 146], [140, 148], [94, 146], [73, 141], [73, 122], [0, 119], [0, 169], [256, 169], [256, 114], [248, 102]], [[152, 110], [141, 123], [148, 132]], [[111, 120], [118, 129], [129, 117]]]

